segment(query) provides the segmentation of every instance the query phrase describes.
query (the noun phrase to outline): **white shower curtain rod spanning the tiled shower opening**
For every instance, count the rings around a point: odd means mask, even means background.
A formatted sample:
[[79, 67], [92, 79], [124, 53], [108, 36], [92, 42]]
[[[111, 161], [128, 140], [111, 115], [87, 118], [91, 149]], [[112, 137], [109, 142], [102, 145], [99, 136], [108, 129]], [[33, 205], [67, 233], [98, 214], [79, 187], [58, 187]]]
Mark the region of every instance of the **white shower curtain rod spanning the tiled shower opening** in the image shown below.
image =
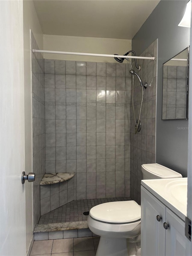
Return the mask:
[[97, 57], [118, 57], [118, 58], [129, 58], [129, 59], [151, 59], [155, 57], [140, 57], [140, 56], [125, 56], [116, 54], [98, 54], [98, 53], [73, 53], [73, 52], [59, 52], [59, 51], [46, 51], [33, 49], [33, 53], [55, 53], [55, 54], [70, 54], [70, 55], [83, 55], [83, 56], [97, 56]]

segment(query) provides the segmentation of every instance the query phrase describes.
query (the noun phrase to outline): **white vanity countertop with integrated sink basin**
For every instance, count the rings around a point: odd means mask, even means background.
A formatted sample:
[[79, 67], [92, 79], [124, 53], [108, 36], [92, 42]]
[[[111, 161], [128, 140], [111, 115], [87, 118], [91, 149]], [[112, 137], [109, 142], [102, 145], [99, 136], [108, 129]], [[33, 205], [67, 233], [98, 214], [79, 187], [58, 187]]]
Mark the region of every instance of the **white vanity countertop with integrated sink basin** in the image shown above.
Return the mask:
[[[181, 187], [178, 184], [181, 184]], [[185, 221], [187, 216], [187, 178], [146, 179], [141, 185]], [[181, 190], [180, 190], [181, 189]]]

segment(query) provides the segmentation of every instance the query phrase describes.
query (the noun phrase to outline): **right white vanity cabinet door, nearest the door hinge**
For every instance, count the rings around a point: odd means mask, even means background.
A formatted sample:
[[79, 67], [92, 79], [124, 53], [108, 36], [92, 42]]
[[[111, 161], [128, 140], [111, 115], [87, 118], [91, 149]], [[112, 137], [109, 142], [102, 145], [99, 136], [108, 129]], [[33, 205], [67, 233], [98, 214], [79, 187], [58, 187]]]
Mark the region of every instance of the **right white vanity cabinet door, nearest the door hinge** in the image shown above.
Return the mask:
[[166, 223], [169, 227], [166, 230], [165, 255], [189, 256], [187, 248], [190, 248], [190, 241], [185, 236], [184, 221], [167, 208]]

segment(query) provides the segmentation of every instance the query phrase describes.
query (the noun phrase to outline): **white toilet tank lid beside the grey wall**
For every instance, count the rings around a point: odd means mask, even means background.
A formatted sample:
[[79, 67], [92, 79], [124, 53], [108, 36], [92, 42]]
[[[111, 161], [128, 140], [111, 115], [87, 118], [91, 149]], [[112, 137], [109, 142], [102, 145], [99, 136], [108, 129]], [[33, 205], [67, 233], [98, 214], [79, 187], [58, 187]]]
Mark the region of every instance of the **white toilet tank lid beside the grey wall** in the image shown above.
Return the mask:
[[182, 178], [182, 175], [161, 164], [142, 164], [143, 173], [152, 173], [160, 178]]

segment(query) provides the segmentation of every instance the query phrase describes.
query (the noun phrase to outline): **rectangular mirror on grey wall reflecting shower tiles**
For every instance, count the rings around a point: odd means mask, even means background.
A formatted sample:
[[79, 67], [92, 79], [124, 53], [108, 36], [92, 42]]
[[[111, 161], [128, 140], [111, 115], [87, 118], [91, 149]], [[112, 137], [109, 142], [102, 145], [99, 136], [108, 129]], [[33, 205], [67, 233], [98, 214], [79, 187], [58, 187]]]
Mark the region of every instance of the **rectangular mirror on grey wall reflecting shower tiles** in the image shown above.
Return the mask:
[[189, 47], [163, 64], [162, 120], [187, 119]]

